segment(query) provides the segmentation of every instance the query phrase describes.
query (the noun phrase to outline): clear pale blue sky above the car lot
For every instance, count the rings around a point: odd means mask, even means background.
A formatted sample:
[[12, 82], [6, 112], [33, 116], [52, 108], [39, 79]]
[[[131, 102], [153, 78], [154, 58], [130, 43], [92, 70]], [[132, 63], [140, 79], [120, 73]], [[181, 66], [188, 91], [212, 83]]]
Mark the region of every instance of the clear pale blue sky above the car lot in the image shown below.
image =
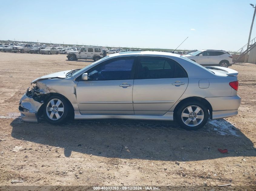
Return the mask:
[[250, 3], [256, 1], [1, 1], [0, 40], [175, 49], [188, 37], [179, 49], [237, 51], [248, 41]]

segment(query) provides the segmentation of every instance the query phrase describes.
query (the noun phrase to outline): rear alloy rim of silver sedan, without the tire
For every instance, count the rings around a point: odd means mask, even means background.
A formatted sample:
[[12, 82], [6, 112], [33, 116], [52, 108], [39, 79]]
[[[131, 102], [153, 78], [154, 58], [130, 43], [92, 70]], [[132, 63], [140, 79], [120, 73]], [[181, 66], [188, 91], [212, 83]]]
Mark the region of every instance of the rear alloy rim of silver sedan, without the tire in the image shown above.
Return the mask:
[[181, 119], [182, 122], [187, 126], [198, 126], [204, 119], [204, 112], [198, 106], [188, 106], [182, 111]]

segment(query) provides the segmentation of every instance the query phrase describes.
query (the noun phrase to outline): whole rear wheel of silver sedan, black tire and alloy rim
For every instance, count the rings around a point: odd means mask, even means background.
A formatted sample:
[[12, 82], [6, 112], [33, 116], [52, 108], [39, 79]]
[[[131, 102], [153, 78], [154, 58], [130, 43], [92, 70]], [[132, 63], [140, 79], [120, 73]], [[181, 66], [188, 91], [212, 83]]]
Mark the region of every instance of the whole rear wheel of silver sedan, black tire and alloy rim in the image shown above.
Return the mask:
[[204, 104], [197, 101], [191, 101], [181, 104], [175, 117], [181, 128], [186, 130], [197, 130], [205, 125], [209, 113]]

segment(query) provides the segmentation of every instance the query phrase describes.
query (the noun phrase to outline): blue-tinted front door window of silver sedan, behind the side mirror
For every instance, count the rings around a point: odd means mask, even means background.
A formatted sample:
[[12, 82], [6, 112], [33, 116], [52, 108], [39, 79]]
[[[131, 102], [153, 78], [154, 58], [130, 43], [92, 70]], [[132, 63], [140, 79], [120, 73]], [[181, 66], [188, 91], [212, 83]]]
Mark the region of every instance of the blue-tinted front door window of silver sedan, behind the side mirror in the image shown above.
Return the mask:
[[128, 80], [133, 79], [134, 58], [113, 59], [103, 62], [88, 71], [88, 80]]

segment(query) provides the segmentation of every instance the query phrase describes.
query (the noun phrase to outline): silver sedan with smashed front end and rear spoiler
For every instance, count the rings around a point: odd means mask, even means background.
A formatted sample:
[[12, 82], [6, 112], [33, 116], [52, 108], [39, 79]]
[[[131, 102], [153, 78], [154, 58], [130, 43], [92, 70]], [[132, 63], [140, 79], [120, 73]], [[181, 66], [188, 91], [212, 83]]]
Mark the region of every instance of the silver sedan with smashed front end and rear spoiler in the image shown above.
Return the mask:
[[26, 122], [44, 115], [52, 124], [75, 119], [176, 120], [187, 129], [211, 119], [238, 114], [238, 72], [202, 67], [164, 52], [128, 52], [106, 56], [83, 69], [49, 74], [20, 100]]

